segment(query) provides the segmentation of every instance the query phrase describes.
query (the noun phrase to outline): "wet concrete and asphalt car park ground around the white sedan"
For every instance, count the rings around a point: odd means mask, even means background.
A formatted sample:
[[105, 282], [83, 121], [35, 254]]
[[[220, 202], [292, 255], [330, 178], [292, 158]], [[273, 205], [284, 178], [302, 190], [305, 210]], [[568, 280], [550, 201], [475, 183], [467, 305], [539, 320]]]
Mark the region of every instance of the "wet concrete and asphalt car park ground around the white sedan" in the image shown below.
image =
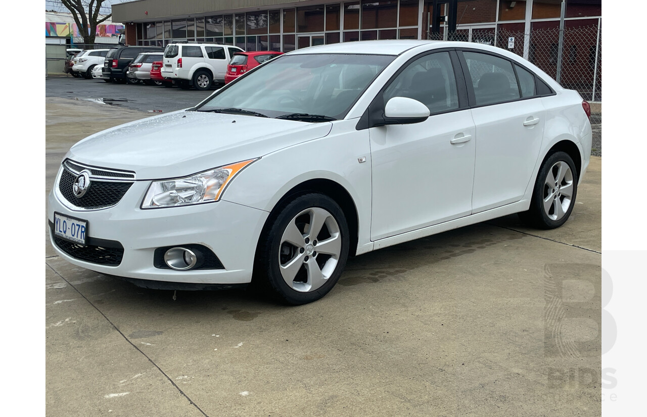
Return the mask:
[[[46, 195], [76, 141], [209, 94], [72, 78], [46, 89]], [[599, 414], [600, 176], [593, 157], [561, 228], [512, 215], [360, 255], [298, 307], [143, 290], [68, 264], [46, 235], [48, 414]], [[551, 313], [573, 310], [597, 319], [556, 332]]]

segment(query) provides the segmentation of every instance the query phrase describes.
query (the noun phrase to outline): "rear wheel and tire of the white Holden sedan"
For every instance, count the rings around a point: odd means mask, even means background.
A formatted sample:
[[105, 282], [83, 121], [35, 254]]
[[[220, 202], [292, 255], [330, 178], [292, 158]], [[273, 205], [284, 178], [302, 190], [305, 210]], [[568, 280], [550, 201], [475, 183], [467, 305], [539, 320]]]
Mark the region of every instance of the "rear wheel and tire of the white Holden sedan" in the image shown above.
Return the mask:
[[529, 226], [554, 229], [568, 220], [577, 197], [577, 170], [567, 153], [558, 151], [543, 161], [532, 189], [530, 209], [519, 213]]

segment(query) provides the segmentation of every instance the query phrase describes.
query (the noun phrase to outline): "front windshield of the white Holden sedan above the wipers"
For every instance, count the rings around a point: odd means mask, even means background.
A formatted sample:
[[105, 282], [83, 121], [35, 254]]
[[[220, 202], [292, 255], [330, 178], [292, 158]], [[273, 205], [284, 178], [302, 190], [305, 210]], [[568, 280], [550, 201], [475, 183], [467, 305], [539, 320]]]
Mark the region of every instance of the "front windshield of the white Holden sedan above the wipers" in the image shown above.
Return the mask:
[[298, 113], [344, 118], [393, 59], [388, 55], [283, 55], [216, 92], [198, 110], [235, 108], [270, 117]]

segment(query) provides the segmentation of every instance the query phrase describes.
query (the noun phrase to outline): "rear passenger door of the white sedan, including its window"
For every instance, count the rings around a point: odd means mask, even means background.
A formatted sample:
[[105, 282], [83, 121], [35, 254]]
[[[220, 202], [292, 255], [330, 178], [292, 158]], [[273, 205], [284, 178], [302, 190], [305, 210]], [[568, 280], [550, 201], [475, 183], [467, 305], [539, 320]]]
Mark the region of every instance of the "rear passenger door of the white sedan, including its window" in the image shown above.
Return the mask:
[[473, 213], [521, 200], [539, 157], [545, 109], [534, 75], [490, 52], [463, 50], [476, 125]]

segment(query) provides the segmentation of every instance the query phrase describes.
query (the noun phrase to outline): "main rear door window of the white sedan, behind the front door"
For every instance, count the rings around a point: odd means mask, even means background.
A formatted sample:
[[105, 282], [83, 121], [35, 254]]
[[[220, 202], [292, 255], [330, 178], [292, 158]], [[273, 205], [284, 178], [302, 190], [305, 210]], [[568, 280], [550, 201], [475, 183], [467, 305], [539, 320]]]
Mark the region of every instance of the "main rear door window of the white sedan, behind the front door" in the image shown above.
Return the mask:
[[470, 72], [476, 105], [509, 102], [520, 98], [512, 63], [478, 52], [463, 52]]

